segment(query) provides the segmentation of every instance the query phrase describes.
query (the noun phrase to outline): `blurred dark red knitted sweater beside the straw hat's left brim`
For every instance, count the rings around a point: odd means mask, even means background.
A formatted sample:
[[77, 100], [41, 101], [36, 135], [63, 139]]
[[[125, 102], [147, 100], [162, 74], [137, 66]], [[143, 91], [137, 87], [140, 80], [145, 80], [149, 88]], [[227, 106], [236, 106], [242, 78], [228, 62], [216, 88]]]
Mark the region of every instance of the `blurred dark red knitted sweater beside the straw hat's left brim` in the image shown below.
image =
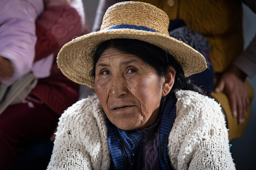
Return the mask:
[[61, 73], [57, 68], [56, 57], [66, 42], [81, 35], [83, 28], [81, 18], [78, 10], [70, 5], [54, 5], [46, 7], [45, 12], [36, 22], [38, 41], [36, 42], [34, 61], [39, 61], [52, 53], [55, 57], [51, 67], [51, 75], [39, 79], [31, 94], [40, 98], [58, 114], [62, 114], [78, 98], [78, 84]]

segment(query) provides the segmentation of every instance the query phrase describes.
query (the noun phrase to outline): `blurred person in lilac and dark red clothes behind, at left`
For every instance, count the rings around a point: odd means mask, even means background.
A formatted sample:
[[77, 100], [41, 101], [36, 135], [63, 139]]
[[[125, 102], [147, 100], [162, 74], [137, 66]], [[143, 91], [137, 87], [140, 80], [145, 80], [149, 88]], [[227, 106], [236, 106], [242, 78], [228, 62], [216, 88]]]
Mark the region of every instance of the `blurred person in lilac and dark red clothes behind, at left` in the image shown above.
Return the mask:
[[[77, 101], [78, 84], [57, 68], [55, 55], [86, 29], [81, 0], [0, 4], [0, 164], [7, 170], [18, 169], [24, 147], [49, 139], [60, 115]], [[8, 93], [17, 82], [18, 87], [19, 82], [26, 86], [28, 79], [23, 78], [28, 74], [34, 83], [26, 99], [18, 96], [20, 101], [5, 105], [2, 87], [8, 87]]]

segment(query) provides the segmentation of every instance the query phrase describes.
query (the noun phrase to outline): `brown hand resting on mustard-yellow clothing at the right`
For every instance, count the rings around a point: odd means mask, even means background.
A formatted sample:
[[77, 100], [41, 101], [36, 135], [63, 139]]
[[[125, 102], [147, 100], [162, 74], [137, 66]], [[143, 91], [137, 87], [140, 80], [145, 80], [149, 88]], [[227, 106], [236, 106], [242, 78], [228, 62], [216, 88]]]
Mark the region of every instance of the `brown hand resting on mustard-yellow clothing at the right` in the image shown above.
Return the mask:
[[249, 105], [245, 78], [245, 73], [233, 65], [221, 76], [215, 88], [216, 93], [224, 91], [228, 96], [232, 113], [238, 118], [239, 123], [244, 122]]

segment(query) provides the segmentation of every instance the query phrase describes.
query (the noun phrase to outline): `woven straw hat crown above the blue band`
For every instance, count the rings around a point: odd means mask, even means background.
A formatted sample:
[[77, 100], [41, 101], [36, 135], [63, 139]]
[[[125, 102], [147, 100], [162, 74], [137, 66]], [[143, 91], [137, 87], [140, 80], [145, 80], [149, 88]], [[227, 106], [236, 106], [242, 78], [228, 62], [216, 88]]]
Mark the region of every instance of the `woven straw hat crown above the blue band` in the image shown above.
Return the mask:
[[108, 8], [100, 30], [113, 25], [136, 25], [168, 34], [169, 18], [161, 9], [143, 2], [121, 2]]

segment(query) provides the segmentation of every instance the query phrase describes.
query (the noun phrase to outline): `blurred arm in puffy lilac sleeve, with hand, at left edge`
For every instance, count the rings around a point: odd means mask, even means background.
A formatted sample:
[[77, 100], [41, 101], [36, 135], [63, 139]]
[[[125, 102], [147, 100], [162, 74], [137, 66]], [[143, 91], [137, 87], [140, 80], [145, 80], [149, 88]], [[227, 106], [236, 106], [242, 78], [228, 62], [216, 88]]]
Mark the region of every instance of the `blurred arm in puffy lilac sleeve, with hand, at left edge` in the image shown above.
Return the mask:
[[32, 68], [37, 40], [35, 21], [43, 10], [42, 0], [33, 3], [19, 0], [0, 3], [0, 56], [7, 63], [0, 67], [1, 83], [12, 84]]

